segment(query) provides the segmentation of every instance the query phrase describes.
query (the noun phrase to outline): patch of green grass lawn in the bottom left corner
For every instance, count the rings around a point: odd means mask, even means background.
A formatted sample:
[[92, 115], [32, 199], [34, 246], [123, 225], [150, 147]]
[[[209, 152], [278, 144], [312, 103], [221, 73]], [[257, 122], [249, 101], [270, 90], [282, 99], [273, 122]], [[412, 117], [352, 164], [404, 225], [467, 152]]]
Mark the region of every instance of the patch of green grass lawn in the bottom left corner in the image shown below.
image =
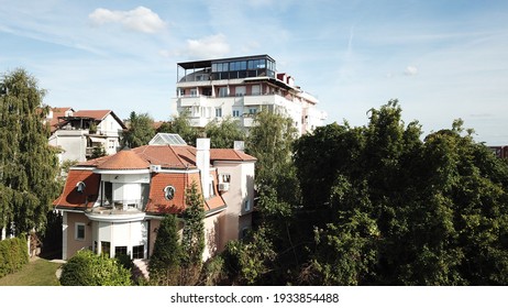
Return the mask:
[[55, 273], [60, 263], [34, 258], [18, 273], [0, 278], [0, 286], [59, 286]]

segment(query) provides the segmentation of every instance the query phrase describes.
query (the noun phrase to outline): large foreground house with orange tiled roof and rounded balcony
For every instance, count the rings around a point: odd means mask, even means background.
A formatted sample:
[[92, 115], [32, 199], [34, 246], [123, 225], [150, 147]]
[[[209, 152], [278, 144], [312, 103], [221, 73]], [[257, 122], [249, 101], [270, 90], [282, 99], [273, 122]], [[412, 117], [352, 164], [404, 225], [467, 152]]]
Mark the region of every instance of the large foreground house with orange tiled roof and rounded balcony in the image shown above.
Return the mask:
[[148, 260], [167, 213], [185, 211], [196, 183], [206, 210], [203, 260], [251, 228], [256, 158], [235, 148], [187, 145], [157, 134], [148, 145], [82, 162], [70, 168], [54, 201], [63, 215], [63, 258], [81, 249], [113, 257]]

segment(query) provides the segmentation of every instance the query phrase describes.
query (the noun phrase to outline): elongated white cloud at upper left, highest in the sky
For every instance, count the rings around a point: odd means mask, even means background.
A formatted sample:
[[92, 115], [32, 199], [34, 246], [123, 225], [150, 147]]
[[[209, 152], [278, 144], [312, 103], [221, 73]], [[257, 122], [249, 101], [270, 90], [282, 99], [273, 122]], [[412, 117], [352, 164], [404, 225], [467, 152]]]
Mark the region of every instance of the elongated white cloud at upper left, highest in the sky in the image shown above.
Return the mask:
[[145, 7], [137, 7], [130, 11], [110, 11], [99, 8], [89, 14], [88, 18], [96, 25], [120, 23], [126, 29], [145, 33], [155, 33], [163, 30], [166, 25], [156, 13]]

